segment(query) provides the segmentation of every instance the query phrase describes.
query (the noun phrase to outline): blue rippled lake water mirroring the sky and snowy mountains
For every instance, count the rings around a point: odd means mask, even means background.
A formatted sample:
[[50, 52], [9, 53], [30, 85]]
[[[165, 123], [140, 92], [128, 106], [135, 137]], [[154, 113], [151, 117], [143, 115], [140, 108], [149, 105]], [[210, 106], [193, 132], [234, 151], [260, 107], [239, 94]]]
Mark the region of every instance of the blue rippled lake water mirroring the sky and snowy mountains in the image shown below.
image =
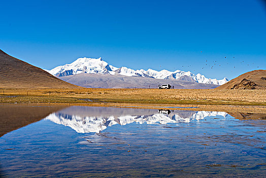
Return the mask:
[[0, 137], [0, 176], [265, 177], [265, 115], [231, 115], [71, 106]]

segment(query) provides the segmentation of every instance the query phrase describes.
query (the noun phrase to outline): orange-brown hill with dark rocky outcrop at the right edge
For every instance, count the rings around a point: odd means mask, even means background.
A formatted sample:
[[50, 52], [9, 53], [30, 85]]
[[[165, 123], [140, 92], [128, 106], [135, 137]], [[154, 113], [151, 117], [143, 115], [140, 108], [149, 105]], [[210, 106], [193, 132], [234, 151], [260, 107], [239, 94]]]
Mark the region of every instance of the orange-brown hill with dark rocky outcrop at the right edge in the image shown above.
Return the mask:
[[247, 72], [217, 87], [216, 89], [266, 90], [266, 70]]

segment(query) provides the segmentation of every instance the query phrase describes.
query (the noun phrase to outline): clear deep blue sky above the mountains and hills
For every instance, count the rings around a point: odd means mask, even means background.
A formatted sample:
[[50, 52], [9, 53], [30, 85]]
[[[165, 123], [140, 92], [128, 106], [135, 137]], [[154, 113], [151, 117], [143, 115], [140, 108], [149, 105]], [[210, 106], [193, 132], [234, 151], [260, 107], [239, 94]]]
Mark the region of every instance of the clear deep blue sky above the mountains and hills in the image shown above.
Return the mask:
[[266, 69], [262, 0], [3, 0], [0, 6], [0, 49], [43, 69], [84, 56], [218, 79]]

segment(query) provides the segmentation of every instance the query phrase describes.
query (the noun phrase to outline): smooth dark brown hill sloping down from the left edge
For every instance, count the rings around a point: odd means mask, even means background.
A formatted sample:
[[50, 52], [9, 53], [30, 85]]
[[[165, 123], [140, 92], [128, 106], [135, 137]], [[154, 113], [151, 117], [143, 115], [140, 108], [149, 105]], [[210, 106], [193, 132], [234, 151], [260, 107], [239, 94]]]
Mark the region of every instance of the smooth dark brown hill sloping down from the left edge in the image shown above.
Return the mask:
[[0, 49], [0, 88], [77, 88]]

